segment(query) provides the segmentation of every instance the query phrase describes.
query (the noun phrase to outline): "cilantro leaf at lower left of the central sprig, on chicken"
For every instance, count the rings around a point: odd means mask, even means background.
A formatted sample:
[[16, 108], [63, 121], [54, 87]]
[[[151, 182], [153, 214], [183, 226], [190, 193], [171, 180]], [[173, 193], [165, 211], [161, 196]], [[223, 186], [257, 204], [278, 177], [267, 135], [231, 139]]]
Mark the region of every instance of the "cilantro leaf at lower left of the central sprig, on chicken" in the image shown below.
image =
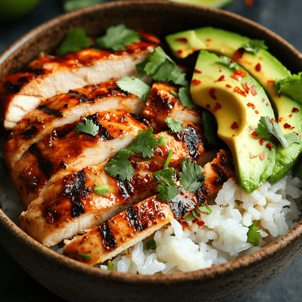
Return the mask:
[[120, 180], [130, 180], [134, 175], [134, 169], [128, 160], [128, 157], [132, 155], [131, 149], [120, 149], [120, 151], [115, 154], [108, 164], [104, 167], [107, 173], [115, 177], [119, 175]]

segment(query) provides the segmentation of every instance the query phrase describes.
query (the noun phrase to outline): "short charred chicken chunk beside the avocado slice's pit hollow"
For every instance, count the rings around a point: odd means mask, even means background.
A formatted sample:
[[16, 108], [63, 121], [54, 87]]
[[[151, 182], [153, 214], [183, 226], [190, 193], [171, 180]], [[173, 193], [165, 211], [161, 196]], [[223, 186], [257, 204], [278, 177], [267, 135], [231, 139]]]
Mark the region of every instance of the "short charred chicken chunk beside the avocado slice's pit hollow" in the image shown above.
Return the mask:
[[201, 124], [198, 108], [188, 109], [182, 106], [178, 98], [170, 92], [173, 90], [178, 93], [178, 86], [173, 86], [168, 82], [155, 82], [152, 85], [149, 98], [146, 102], [143, 117], [154, 129], [154, 133], [167, 128], [166, 117], [175, 120], [190, 121]]

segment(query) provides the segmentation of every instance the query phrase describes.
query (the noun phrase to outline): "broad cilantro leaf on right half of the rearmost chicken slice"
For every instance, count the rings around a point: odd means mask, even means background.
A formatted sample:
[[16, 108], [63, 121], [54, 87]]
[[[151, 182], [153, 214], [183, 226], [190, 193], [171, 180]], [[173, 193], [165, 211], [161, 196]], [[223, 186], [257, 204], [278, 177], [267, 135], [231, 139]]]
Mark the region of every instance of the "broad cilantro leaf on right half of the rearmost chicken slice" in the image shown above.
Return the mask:
[[124, 24], [113, 25], [107, 28], [103, 37], [95, 40], [94, 48], [124, 50], [125, 45], [131, 45], [140, 41], [140, 35], [133, 29], [126, 28]]

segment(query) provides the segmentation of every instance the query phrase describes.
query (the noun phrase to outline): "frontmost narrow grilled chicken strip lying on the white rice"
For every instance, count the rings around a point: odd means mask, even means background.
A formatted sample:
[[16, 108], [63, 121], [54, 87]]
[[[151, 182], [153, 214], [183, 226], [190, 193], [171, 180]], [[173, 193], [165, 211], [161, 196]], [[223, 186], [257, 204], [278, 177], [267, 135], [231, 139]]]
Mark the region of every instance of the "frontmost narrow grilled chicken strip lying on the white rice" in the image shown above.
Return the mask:
[[[204, 184], [196, 192], [188, 192], [178, 187], [181, 193], [169, 203], [158, 199], [156, 195], [152, 196], [88, 233], [71, 241], [65, 240], [64, 255], [94, 265], [111, 259], [145, 239], [169, 224], [172, 219], [181, 220], [186, 213], [203, 204], [209, 195], [234, 175], [231, 154], [220, 150], [217, 157], [204, 166], [203, 175]], [[80, 254], [90, 257], [88, 259]]]

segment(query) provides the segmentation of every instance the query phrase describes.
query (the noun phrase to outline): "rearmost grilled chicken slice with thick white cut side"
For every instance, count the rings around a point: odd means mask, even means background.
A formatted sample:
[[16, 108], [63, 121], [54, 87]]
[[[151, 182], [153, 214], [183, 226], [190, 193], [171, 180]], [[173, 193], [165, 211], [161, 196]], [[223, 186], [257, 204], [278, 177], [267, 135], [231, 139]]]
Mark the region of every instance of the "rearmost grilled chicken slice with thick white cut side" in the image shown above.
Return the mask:
[[126, 50], [86, 48], [61, 57], [38, 57], [26, 72], [7, 76], [0, 83], [4, 127], [12, 129], [25, 114], [54, 95], [122, 76], [139, 76], [136, 64], [142, 62], [160, 41], [140, 33], [142, 40]]

